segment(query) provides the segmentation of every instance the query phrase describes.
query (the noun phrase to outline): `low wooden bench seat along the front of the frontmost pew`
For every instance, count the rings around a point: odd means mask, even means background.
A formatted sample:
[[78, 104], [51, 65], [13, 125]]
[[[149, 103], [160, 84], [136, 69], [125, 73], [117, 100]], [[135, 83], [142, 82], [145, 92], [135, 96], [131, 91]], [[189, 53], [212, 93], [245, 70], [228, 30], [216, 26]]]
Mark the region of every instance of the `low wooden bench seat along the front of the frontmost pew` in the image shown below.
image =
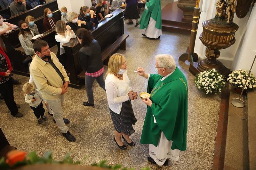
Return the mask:
[[[122, 50], [126, 50], [126, 39], [129, 35], [123, 34], [121, 37], [119, 37], [111, 46], [109, 46], [105, 51], [102, 52], [102, 61], [106, 60], [108, 57], [110, 57], [118, 47], [120, 47]], [[84, 80], [85, 71], [82, 71], [80, 74], [77, 75], [78, 79]]]

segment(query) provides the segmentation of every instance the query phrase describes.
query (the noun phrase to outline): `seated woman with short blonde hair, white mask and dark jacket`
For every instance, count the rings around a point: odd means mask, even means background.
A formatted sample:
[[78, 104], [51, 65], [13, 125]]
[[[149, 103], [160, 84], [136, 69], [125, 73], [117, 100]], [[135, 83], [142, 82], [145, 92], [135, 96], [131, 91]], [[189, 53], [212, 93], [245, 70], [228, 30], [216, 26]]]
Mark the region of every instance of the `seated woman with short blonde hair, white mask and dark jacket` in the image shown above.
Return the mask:
[[73, 30], [75, 33], [79, 28], [85, 28], [87, 30], [90, 29], [89, 24], [87, 24], [85, 21], [81, 21], [80, 19], [78, 19], [76, 12], [70, 12], [70, 14], [68, 14], [68, 22], [71, 30]]

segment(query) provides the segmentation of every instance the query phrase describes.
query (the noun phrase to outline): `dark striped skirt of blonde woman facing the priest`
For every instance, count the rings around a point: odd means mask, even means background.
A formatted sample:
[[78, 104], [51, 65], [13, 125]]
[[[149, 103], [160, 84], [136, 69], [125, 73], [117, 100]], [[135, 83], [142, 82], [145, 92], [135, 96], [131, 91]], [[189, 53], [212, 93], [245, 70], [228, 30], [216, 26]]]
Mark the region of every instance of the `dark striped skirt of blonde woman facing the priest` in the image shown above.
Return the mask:
[[109, 108], [110, 116], [113, 121], [115, 130], [118, 133], [123, 132], [125, 135], [130, 136], [132, 133], [135, 132], [132, 125], [134, 125], [137, 120], [134, 116], [133, 110], [132, 110], [132, 103], [130, 100], [122, 103], [122, 108], [120, 111], [120, 114], [117, 114], [116, 112], [112, 111]]

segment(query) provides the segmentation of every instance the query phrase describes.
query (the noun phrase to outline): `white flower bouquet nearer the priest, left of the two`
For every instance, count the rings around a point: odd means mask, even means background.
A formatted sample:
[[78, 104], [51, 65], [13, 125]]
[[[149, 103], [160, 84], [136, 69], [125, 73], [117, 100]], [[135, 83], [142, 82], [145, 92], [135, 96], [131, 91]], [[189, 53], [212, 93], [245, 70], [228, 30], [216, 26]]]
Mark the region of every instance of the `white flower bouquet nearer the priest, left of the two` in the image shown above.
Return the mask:
[[204, 93], [218, 93], [225, 86], [225, 76], [217, 72], [215, 69], [210, 69], [196, 74], [195, 86]]

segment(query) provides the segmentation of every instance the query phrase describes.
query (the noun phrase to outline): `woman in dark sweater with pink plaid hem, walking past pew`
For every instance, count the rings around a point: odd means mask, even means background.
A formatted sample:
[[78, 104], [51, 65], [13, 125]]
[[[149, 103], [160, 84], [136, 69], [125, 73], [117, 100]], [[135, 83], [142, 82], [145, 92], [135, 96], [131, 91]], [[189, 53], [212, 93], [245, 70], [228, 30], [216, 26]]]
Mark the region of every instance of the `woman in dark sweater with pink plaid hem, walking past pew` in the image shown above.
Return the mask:
[[85, 89], [87, 93], [87, 102], [83, 102], [84, 106], [94, 106], [92, 85], [96, 79], [102, 89], [105, 89], [105, 81], [103, 79], [104, 67], [101, 59], [100, 44], [93, 39], [90, 31], [80, 28], [76, 31], [76, 38], [82, 44], [79, 50], [80, 65], [85, 71]]

